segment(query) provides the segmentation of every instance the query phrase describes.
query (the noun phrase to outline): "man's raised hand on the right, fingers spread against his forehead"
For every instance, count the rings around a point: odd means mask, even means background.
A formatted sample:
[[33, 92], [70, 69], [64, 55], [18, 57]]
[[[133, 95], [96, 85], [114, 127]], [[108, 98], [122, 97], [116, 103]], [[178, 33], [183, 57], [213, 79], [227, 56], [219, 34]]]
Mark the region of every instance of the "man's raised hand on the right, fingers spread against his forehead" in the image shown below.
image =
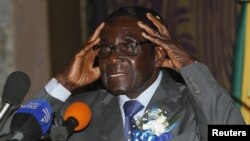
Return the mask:
[[187, 53], [171, 39], [167, 27], [158, 16], [155, 17], [147, 13], [147, 17], [154, 23], [158, 31], [154, 31], [142, 22], [138, 22], [138, 26], [146, 31], [142, 33], [143, 37], [155, 43], [166, 52], [167, 55], [161, 65], [162, 67], [179, 71], [182, 67], [192, 64], [195, 61], [195, 57]]

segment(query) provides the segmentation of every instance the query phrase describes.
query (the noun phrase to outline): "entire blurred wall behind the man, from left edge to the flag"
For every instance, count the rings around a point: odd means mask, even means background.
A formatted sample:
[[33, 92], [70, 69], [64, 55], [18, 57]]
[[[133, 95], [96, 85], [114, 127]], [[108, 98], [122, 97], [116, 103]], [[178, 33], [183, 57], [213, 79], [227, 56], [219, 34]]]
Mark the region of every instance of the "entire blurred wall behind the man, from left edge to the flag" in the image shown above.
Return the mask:
[[69, 63], [95, 27], [121, 6], [152, 8], [173, 37], [231, 88], [237, 0], [0, 0], [0, 90], [15, 70], [32, 96]]

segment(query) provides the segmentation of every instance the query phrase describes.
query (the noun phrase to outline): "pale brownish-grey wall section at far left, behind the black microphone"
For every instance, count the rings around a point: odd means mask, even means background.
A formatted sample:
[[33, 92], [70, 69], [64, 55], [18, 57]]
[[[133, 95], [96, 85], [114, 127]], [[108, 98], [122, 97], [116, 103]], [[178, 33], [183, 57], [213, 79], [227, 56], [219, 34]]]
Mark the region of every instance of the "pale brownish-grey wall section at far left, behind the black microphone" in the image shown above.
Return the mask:
[[45, 0], [0, 0], [0, 90], [16, 70], [31, 79], [29, 93], [49, 79], [48, 3]]

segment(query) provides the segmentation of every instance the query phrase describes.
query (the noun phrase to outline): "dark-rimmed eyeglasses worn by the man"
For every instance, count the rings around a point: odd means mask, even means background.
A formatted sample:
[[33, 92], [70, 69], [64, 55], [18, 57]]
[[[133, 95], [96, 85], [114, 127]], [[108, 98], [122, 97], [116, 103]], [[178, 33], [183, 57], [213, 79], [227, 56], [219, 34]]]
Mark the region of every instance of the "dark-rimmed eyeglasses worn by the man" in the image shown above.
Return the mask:
[[115, 50], [119, 56], [135, 56], [140, 50], [140, 47], [144, 44], [149, 44], [150, 41], [144, 42], [131, 42], [131, 43], [120, 43], [118, 45], [96, 45], [93, 47], [99, 58], [108, 57], [112, 50]]

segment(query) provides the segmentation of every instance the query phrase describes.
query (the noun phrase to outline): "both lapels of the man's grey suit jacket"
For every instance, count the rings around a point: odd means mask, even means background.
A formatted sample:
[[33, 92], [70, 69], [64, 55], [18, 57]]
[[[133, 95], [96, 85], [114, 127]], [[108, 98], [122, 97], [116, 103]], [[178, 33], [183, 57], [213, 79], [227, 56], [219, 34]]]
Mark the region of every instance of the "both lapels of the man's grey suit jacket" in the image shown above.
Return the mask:
[[[167, 72], [164, 72], [160, 86], [157, 88], [146, 110], [151, 109], [152, 106], [160, 105], [167, 112], [167, 118], [170, 119], [181, 109], [181, 97], [182, 94], [176, 82]], [[103, 118], [96, 125], [101, 128], [100, 136], [102, 136], [102, 140], [124, 141], [124, 127], [118, 97], [110, 98], [109, 101], [106, 101], [106, 106], [105, 111], [100, 115]]]

